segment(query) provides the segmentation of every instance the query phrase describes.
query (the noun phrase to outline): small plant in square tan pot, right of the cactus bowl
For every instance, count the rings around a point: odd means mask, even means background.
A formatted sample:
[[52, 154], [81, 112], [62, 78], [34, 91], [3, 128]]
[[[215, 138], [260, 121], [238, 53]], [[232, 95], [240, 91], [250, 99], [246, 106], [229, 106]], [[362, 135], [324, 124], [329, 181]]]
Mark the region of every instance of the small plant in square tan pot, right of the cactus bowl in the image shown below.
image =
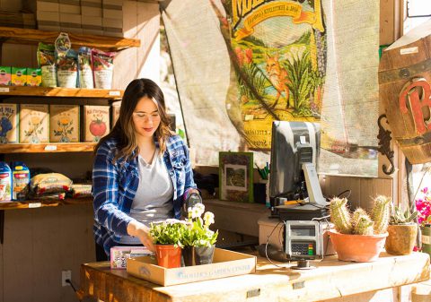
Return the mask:
[[386, 252], [391, 255], [409, 255], [413, 251], [418, 235], [417, 217], [418, 211], [411, 212], [409, 208], [402, 211], [398, 206], [393, 207], [389, 235], [384, 245]]

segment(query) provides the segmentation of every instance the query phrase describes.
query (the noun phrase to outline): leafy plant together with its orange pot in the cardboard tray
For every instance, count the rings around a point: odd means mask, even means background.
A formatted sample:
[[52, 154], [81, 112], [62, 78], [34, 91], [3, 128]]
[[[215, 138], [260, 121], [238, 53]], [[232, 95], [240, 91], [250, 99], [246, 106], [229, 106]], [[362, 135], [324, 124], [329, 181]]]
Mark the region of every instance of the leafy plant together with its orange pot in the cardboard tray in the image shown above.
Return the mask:
[[150, 225], [150, 236], [154, 240], [157, 264], [166, 268], [180, 267], [182, 238], [186, 222], [169, 219]]

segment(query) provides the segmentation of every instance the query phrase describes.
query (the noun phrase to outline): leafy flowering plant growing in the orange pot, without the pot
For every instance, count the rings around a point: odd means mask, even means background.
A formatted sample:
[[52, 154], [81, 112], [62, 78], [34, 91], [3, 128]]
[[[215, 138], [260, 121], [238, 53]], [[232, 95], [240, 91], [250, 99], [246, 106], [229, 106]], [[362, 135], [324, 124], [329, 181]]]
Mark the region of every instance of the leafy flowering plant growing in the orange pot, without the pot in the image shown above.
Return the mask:
[[169, 219], [150, 224], [150, 236], [155, 245], [174, 245], [182, 247], [187, 221]]

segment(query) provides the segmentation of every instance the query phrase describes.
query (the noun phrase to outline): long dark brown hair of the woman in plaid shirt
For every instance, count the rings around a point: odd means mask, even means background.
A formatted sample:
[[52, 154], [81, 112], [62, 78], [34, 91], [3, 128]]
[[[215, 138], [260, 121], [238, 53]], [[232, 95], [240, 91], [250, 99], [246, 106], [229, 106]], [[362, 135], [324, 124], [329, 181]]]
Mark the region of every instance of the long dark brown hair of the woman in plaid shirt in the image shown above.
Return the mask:
[[[153, 99], [157, 104], [160, 115], [160, 125], [154, 133], [155, 139], [159, 142], [161, 154], [166, 151], [166, 140], [172, 135], [169, 124], [170, 118], [167, 116], [164, 105], [164, 96], [160, 87], [149, 79], [136, 79], [128, 84], [124, 91], [123, 99], [121, 100], [121, 108], [119, 109], [119, 119], [114, 125], [110, 134], [101, 138], [97, 143], [94, 151], [96, 152], [103, 142], [110, 138], [117, 139], [117, 153], [114, 157], [115, 161], [119, 158], [125, 160], [133, 160], [139, 154], [139, 147], [136, 143], [135, 125], [133, 124], [133, 111], [136, 108], [138, 101], [142, 98]], [[133, 151], [135, 155], [133, 155]]]

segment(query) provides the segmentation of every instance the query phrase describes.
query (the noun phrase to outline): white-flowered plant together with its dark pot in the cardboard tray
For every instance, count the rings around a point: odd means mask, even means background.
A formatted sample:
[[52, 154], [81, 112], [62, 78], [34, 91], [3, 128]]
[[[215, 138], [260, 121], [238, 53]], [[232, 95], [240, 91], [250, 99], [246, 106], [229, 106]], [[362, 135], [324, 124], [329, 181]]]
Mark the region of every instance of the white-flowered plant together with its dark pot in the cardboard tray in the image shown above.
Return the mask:
[[214, 222], [214, 214], [211, 211], [205, 212], [204, 204], [197, 203], [188, 209], [186, 231], [182, 240], [186, 266], [193, 262], [196, 265], [213, 262], [218, 231], [212, 231], [209, 227]]

